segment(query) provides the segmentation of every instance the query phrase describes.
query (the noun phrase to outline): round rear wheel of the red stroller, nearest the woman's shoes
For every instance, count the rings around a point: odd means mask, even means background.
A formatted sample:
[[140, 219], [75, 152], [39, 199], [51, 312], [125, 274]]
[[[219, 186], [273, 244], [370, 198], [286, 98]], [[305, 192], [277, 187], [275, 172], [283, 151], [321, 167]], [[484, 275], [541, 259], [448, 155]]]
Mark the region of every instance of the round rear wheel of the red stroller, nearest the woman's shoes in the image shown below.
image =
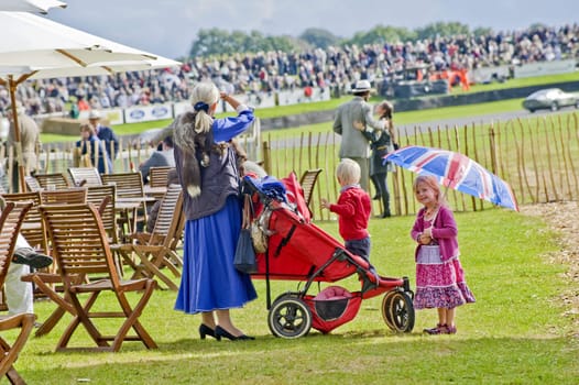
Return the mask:
[[312, 311], [302, 299], [283, 296], [273, 302], [267, 324], [275, 337], [299, 338], [312, 328]]

